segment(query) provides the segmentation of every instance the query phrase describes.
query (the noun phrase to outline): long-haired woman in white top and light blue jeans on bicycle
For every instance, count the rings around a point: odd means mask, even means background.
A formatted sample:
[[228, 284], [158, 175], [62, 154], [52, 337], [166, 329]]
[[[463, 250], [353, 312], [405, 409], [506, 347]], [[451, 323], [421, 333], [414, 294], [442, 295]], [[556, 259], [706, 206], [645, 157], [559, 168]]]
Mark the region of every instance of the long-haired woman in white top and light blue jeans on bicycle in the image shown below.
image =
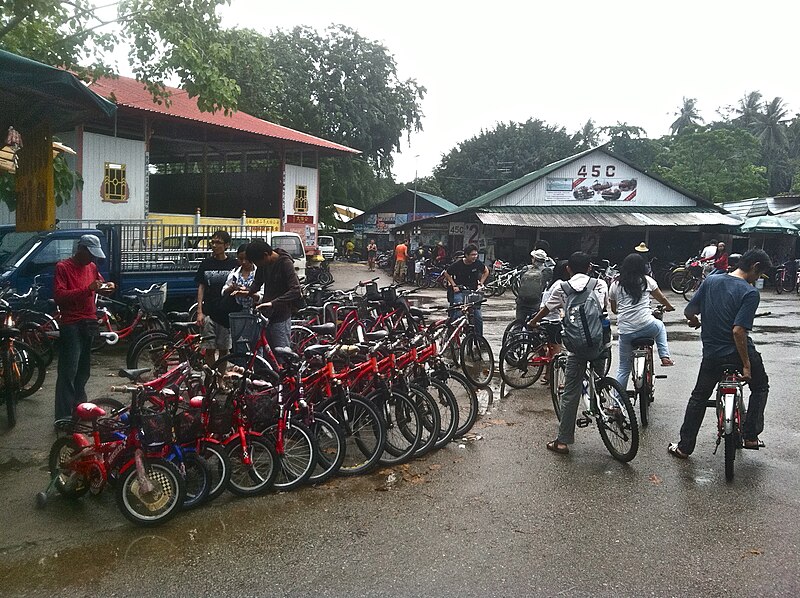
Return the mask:
[[655, 339], [661, 365], [673, 365], [667, 346], [667, 329], [664, 322], [653, 317], [650, 296], [655, 297], [667, 311], [674, 311], [675, 308], [658, 288], [656, 281], [645, 274], [646, 263], [638, 253], [628, 255], [622, 261], [619, 279], [611, 283], [608, 291], [611, 311], [617, 314], [619, 365], [616, 377], [622, 388], [628, 387], [631, 376], [631, 342], [636, 338]]

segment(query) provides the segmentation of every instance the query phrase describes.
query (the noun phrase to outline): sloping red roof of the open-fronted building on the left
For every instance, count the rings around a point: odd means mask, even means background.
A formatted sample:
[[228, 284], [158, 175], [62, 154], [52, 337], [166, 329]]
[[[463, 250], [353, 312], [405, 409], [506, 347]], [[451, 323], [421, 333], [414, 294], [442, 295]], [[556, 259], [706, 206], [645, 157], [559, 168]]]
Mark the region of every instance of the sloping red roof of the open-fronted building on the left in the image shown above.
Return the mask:
[[234, 112], [225, 116], [222, 111], [215, 113], [202, 112], [197, 107], [197, 101], [189, 98], [187, 93], [175, 87], [167, 87], [170, 95], [170, 106], [167, 108], [163, 103], [156, 104], [153, 97], [143, 83], [129, 77], [119, 77], [117, 79], [102, 78], [91, 86], [92, 91], [104, 98], [113, 99], [117, 106], [141, 110], [143, 112], [155, 112], [171, 118], [179, 118], [201, 122], [218, 127], [226, 127], [237, 131], [245, 131], [255, 135], [262, 135], [271, 139], [282, 139], [294, 143], [312, 145], [318, 148], [357, 154], [358, 150], [327, 141], [313, 135], [301, 133], [288, 127], [282, 127], [245, 112]]

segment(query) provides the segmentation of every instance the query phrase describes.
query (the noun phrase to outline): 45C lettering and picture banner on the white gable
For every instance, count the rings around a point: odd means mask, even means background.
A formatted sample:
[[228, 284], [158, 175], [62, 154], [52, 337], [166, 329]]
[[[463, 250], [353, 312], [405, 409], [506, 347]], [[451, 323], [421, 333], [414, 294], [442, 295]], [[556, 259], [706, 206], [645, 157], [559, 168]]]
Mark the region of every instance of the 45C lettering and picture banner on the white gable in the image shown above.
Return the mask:
[[573, 176], [545, 178], [545, 199], [603, 203], [633, 201], [636, 198], [636, 179], [618, 177], [616, 164], [576, 162], [573, 168]]

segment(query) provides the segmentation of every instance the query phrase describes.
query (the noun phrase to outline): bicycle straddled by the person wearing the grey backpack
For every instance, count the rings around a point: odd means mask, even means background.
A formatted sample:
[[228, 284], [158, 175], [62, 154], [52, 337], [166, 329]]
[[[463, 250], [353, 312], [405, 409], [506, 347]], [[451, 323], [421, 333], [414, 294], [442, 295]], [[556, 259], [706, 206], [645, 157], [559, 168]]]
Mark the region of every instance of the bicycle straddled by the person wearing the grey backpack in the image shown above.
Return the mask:
[[[553, 358], [553, 373], [550, 379], [553, 408], [561, 419], [561, 399], [567, 371], [567, 355], [560, 353]], [[582, 383], [579, 428], [586, 428], [594, 420], [603, 444], [617, 461], [631, 461], [639, 450], [639, 424], [628, 393], [614, 378], [603, 377], [589, 362]]]

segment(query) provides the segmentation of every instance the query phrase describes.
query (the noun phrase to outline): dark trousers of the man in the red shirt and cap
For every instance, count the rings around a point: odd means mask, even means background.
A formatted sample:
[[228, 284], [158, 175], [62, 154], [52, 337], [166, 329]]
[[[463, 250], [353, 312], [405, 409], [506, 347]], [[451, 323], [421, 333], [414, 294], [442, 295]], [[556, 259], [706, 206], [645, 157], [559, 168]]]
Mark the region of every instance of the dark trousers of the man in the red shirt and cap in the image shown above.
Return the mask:
[[91, 370], [92, 339], [97, 322], [78, 322], [61, 327], [56, 380], [56, 419], [72, 417], [86, 401], [86, 383]]

